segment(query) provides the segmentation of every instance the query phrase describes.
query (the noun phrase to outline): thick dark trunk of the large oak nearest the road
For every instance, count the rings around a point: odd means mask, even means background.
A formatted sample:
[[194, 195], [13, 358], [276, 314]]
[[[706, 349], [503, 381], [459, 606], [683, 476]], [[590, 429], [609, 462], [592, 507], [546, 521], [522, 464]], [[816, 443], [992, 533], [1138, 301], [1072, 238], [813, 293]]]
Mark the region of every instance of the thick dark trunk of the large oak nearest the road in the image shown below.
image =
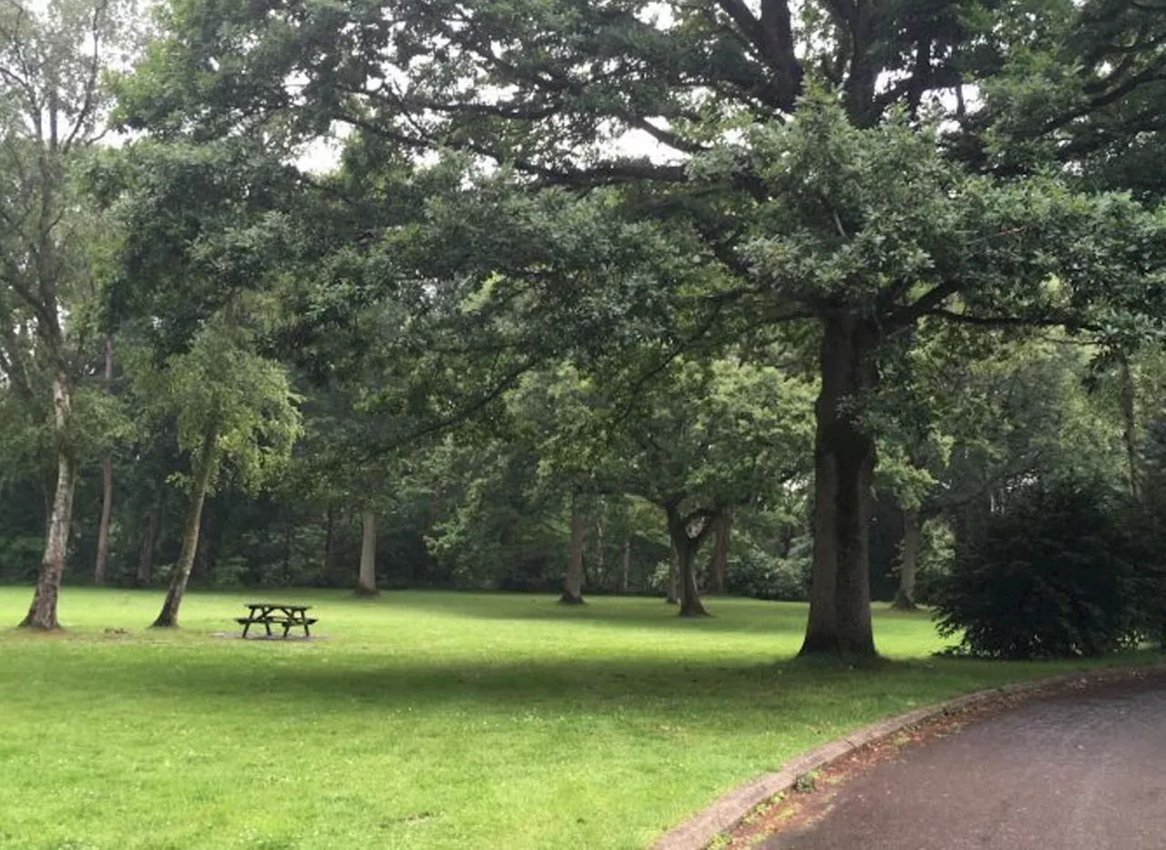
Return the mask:
[[861, 406], [877, 380], [877, 326], [855, 310], [823, 318], [814, 445], [814, 575], [802, 655], [873, 656], [870, 518], [874, 441]]

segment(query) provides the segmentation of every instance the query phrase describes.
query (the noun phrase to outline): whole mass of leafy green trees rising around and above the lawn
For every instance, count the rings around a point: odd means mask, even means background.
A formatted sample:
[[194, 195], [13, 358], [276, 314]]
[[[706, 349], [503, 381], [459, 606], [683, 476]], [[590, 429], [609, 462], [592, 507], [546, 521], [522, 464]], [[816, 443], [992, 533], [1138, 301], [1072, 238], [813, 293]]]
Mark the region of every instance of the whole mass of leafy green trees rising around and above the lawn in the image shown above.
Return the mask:
[[0, 579], [1164, 599], [1164, 133], [1152, 0], [0, 0]]

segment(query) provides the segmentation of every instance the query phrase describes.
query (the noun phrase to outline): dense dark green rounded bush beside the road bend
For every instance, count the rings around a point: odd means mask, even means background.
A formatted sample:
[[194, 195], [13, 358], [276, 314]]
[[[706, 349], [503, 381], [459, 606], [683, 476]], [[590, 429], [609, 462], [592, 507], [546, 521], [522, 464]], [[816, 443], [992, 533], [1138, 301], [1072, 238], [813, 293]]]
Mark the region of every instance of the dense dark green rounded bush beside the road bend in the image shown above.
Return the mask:
[[1132, 531], [1131, 508], [1102, 485], [1032, 485], [961, 541], [935, 593], [958, 652], [1000, 659], [1100, 655], [1146, 630], [1154, 548]]

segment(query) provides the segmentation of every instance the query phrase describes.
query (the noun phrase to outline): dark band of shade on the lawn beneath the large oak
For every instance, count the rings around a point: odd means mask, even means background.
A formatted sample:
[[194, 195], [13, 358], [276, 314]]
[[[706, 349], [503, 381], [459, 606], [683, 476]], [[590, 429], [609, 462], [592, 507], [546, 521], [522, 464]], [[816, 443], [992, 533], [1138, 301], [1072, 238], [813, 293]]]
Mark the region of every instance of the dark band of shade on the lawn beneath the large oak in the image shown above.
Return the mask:
[[[1161, 661], [1160, 653], [1125, 656], [1130, 663]], [[1114, 660], [1111, 659], [1112, 663]], [[136, 669], [106, 666], [108, 688], [167, 697], [199, 710], [215, 704], [276, 700], [296, 711], [547, 710], [701, 715], [732, 718], [772, 714], [781, 723], [830, 724], [838, 716], [886, 715], [947, 696], [1019, 679], [1084, 669], [1096, 663], [999, 663], [969, 660], [883, 661], [850, 668], [822, 661], [773, 663], [661, 663], [654, 660], [528, 660], [476, 663], [337, 663], [288, 659], [245, 663], [218, 658]], [[128, 675], [127, 675], [128, 674]], [[92, 684], [90, 684], [92, 687]]]

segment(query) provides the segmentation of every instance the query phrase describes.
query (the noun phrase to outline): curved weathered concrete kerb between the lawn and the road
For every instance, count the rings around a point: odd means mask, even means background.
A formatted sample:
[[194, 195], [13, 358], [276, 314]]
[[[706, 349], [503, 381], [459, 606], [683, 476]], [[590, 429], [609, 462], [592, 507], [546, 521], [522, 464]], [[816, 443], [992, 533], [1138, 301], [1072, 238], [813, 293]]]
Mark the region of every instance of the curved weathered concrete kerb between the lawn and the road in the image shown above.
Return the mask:
[[879, 721], [799, 756], [784, 765], [780, 771], [763, 773], [760, 777], [737, 786], [729, 793], [717, 798], [710, 806], [689, 820], [669, 829], [652, 845], [651, 850], [703, 850], [703, 848], [708, 847], [709, 842], [721, 833], [736, 826], [754, 808], [772, 800], [778, 794], [789, 791], [800, 777], [821, 770], [866, 744], [881, 740], [901, 729], [913, 726], [933, 717], [955, 714], [984, 702], [998, 700], [1002, 696], [1035, 696], [1042, 690], [1066, 684], [1080, 683], [1084, 687], [1087, 684], [1100, 684], [1164, 672], [1166, 672], [1166, 665], [1149, 665], [1145, 667], [1111, 667], [1067, 673], [1059, 676], [1046, 676], [1026, 682], [1013, 682], [989, 690], [979, 690], [975, 694], [967, 694], [935, 705], [915, 709], [897, 717]]

